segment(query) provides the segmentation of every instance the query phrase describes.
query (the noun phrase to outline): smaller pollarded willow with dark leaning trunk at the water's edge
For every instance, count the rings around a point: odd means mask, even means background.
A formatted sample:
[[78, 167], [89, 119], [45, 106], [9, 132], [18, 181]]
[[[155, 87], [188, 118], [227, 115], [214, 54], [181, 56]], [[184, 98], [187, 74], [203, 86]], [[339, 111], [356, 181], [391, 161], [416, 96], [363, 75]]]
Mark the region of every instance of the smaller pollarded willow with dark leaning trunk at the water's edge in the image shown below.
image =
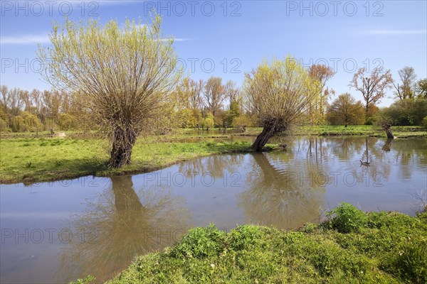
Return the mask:
[[264, 61], [246, 74], [243, 83], [246, 103], [263, 125], [253, 150], [262, 151], [270, 138], [288, 130], [318, 99], [320, 89], [320, 81], [290, 56], [285, 60]]

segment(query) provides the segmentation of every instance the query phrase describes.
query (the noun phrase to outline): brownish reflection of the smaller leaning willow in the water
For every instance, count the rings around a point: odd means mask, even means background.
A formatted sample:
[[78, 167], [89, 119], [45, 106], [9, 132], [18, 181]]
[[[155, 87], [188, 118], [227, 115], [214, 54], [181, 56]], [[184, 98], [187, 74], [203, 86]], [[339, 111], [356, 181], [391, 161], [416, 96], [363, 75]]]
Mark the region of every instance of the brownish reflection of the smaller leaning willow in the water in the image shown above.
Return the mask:
[[240, 194], [239, 202], [249, 222], [280, 229], [317, 222], [325, 193], [320, 171], [307, 160], [288, 165], [292, 168], [280, 170], [264, 153], [253, 154], [253, 170], [246, 183], [249, 189]]

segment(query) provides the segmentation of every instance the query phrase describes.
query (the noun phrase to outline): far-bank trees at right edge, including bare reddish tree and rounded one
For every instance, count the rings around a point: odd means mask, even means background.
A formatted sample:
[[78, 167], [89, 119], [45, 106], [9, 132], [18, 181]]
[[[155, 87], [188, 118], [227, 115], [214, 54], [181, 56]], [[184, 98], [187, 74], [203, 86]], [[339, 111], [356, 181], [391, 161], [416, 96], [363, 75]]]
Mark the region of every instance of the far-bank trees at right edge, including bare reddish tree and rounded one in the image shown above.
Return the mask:
[[[367, 76], [360, 68], [349, 83], [362, 94], [363, 102], [349, 93], [340, 94], [327, 109], [327, 123], [331, 125], [391, 124], [399, 126], [423, 125], [427, 128], [427, 79], [416, 80], [413, 67], [399, 70], [399, 80], [390, 70], [375, 68]], [[387, 89], [394, 89], [395, 102], [379, 109], [376, 104]], [[426, 118], [426, 119], [425, 119]]]

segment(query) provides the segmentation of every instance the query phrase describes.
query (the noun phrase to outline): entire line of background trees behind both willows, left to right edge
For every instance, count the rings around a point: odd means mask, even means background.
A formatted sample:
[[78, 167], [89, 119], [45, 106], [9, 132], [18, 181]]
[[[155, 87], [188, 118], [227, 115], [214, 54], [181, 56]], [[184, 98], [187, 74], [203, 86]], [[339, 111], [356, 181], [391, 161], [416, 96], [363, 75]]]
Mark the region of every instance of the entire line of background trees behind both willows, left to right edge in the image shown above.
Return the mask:
[[[321, 94], [309, 106], [310, 111], [300, 124], [357, 125], [382, 124], [422, 125], [427, 116], [427, 79], [416, 80], [412, 67], [399, 70], [399, 80], [390, 70], [375, 68], [367, 74], [360, 68], [349, 86], [363, 96], [356, 101], [349, 93], [334, 96], [333, 89], [325, 87], [334, 72], [324, 65], [313, 65], [309, 74], [321, 82]], [[379, 109], [376, 104], [387, 89], [394, 89], [395, 102]], [[0, 86], [0, 131], [44, 131], [50, 129], [82, 129], [81, 118], [85, 107], [75, 96], [56, 90], [27, 90]], [[184, 78], [169, 96], [172, 117], [159, 121], [163, 129], [258, 126], [256, 109], [246, 102], [243, 92], [233, 81], [221, 77], [209, 80]], [[427, 124], [427, 119], [424, 119]], [[427, 125], [426, 125], [427, 126]]]

